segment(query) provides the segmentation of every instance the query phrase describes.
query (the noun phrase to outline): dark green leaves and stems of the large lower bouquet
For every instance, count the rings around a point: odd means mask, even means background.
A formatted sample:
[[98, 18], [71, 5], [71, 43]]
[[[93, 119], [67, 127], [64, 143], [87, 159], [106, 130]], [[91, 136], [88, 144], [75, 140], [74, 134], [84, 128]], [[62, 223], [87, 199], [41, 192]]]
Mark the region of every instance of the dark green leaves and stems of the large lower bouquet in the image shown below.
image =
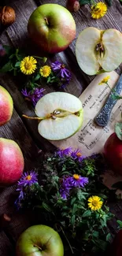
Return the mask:
[[[28, 193], [28, 198], [21, 200], [21, 207], [39, 211], [40, 223], [43, 219], [52, 227], [58, 225], [61, 236], [65, 236], [64, 243], [73, 253], [105, 250], [109, 241], [107, 221], [113, 214], [105, 206], [108, 190], [98, 181], [98, 166], [103, 167], [102, 161], [102, 156], [97, 155], [79, 162], [70, 156], [46, 154], [38, 169], [40, 185], [36, 184], [34, 193], [29, 192], [32, 196]], [[62, 178], [75, 173], [88, 177], [89, 183], [72, 188], [67, 199], [61, 198]], [[88, 207], [87, 200], [92, 195], [98, 195], [103, 202], [105, 199], [102, 209], [92, 211]]]

